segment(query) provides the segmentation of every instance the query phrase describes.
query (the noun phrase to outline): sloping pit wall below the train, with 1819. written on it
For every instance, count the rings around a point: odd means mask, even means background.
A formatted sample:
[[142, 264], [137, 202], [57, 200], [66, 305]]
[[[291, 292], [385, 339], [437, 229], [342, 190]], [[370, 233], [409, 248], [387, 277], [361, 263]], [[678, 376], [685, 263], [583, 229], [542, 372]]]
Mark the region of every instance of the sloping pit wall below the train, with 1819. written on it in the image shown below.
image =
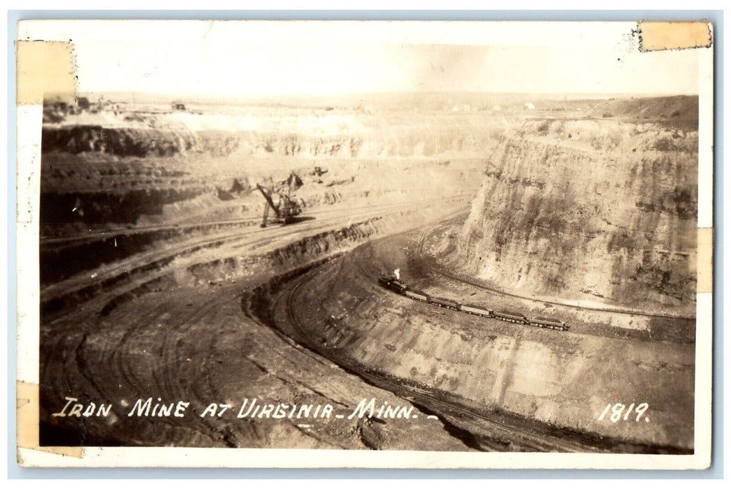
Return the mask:
[[[297, 306], [310, 331], [357, 368], [476, 409], [655, 447], [693, 448], [694, 346], [576, 335], [444, 311], [322, 273]], [[322, 300], [323, 290], [338, 291]], [[379, 298], [368, 295], [378, 295]], [[385, 296], [385, 297], [384, 297]], [[469, 324], [464, 325], [464, 321]], [[461, 326], [456, 326], [461, 325]], [[648, 403], [648, 421], [597, 418]]]

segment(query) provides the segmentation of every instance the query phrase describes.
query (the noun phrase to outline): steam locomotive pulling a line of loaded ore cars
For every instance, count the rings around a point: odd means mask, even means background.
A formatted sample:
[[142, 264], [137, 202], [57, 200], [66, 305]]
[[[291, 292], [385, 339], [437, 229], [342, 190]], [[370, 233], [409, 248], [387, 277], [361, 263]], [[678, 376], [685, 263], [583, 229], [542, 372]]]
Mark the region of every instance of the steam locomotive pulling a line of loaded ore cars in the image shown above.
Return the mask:
[[485, 308], [474, 304], [463, 304], [456, 300], [445, 299], [444, 297], [435, 297], [428, 295], [420, 290], [414, 290], [409, 284], [402, 281], [401, 278], [395, 276], [383, 275], [378, 278], [378, 283], [385, 289], [389, 289], [397, 294], [404, 295], [413, 300], [428, 303], [444, 309], [459, 311], [473, 316], [482, 316], [489, 319], [498, 319], [504, 322], [512, 322], [517, 325], [526, 325], [533, 327], [542, 327], [549, 330], [567, 331], [569, 326], [558, 319], [549, 317], [527, 317], [524, 314], [512, 311], [496, 311], [495, 309]]

